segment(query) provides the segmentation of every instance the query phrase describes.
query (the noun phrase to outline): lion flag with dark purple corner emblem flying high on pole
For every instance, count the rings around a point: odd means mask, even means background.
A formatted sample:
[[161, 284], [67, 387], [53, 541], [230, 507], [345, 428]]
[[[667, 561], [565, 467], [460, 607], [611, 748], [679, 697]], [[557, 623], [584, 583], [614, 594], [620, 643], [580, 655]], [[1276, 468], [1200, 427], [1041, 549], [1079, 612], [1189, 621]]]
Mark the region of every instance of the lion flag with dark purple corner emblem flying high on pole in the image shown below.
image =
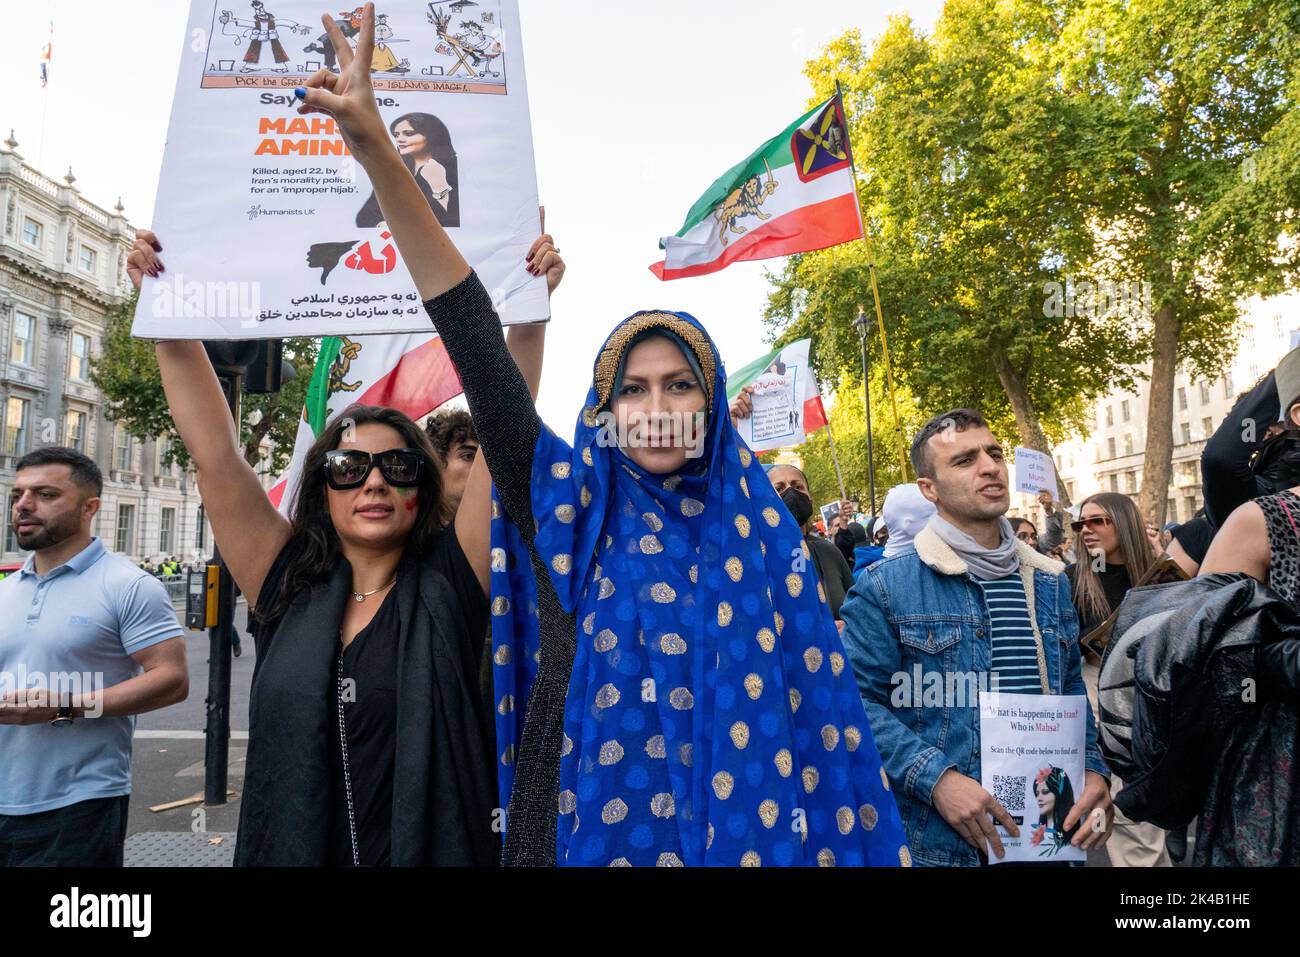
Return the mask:
[[676, 235], [659, 242], [660, 280], [862, 238], [844, 103], [836, 94], [708, 187]]

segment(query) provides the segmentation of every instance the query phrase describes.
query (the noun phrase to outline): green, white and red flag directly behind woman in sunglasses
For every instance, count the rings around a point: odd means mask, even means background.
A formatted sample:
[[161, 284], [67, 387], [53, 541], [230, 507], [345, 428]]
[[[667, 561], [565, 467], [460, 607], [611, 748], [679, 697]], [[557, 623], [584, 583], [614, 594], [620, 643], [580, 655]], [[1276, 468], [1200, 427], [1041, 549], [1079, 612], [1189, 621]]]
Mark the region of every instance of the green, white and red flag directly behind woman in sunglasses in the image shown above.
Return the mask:
[[429, 333], [321, 339], [307, 404], [289, 468], [268, 493], [289, 515], [302, 482], [303, 460], [316, 437], [348, 406], [387, 406], [419, 421], [460, 395], [460, 376], [442, 343]]

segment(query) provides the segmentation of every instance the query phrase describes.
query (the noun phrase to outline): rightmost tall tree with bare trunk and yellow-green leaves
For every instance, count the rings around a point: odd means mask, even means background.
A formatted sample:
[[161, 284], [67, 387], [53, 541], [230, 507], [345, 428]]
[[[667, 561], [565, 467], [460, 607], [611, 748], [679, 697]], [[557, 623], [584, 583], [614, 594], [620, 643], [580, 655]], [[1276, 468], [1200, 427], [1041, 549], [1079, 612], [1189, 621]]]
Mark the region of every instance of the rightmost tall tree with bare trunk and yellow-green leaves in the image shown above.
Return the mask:
[[1154, 293], [1140, 508], [1160, 525], [1179, 365], [1222, 373], [1242, 299], [1300, 280], [1300, 5], [1088, 0], [1052, 61], [1092, 117], [1104, 268]]

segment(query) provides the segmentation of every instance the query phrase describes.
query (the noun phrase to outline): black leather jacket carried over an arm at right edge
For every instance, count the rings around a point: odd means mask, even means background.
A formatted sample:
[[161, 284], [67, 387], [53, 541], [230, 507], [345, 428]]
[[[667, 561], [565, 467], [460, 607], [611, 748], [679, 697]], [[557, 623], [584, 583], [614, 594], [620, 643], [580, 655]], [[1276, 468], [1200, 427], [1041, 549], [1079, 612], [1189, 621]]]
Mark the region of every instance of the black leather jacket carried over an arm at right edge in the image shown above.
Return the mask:
[[1115, 804], [1186, 827], [1228, 732], [1300, 693], [1300, 611], [1248, 575], [1206, 575], [1132, 589], [1114, 635], [1097, 697], [1101, 752], [1124, 781]]

